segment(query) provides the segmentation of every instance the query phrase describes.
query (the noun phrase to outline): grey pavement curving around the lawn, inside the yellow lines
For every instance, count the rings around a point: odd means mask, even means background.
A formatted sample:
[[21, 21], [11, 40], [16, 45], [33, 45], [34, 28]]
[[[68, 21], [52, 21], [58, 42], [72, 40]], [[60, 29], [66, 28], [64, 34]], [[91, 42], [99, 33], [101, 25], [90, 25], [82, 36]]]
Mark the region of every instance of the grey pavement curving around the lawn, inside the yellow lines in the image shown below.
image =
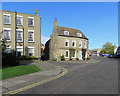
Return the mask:
[[[0, 88], [2, 88], [3, 94], [30, 84], [42, 81], [48, 78], [51, 78], [55, 75], [58, 75], [62, 72], [62, 69], [56, 65], [49, 64], [46, 61], [44, 62], [34, 62], [28, 65], [36, 65], [41, 70], [36, 73], [31, 73], [23, 76], [14, 77], [11, 79], [5, 79], [0, 81]], [[27, 66], [27, 65], [26, 65]]]

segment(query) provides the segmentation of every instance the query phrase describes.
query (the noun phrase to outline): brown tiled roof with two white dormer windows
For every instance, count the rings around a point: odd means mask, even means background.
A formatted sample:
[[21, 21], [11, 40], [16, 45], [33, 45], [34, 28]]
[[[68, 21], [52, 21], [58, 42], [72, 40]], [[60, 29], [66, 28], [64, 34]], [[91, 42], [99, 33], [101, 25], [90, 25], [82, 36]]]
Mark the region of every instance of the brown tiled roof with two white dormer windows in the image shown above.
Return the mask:
[[[80, 30], [77, 30], [77, 29], [74, 29], [74, 28], [57, 26], [58, 36], [66, 36], [66, 35], [64, 35], [64, 31], [69, 31], [69, 36], [68, 37], [77, 37], [77, 38], [87, 39], [86, 36]], [[76, 35], [76, 33], [81, 33], [82, 37], [78, 37]]]

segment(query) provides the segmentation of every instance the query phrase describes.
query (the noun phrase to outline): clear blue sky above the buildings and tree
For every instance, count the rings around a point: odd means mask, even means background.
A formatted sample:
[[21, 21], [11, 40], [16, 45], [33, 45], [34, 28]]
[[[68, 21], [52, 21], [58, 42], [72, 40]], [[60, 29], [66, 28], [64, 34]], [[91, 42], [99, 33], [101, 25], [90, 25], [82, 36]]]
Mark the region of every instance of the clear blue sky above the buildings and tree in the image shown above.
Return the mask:
[[2, 9], [41, 16], [41, 41], [52, 34], [54, 19], [58, 26], [76, 28], [89, 39], [89, 49], [102, 48], [107, 41], [118, 45], [117, 2], [4, 2]]

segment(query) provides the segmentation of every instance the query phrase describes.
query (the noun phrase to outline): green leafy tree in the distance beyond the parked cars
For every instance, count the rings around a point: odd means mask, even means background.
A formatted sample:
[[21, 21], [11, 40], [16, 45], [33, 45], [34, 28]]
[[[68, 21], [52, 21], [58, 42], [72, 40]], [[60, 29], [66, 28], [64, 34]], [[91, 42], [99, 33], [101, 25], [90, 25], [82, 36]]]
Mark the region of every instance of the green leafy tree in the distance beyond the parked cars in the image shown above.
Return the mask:
[[110, 42], [106, 42], [106, 44], [102, 47], [102, 53], [104, 54], [114, 54], [115, 45], [112, 45]]

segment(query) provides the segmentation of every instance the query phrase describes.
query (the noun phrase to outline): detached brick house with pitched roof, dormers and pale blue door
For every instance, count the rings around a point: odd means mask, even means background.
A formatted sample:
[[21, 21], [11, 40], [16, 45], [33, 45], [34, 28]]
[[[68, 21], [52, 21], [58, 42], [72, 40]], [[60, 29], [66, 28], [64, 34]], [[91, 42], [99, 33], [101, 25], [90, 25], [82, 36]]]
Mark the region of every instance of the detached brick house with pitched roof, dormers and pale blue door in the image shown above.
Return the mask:
[[54, 28], [49, 40], [50, 59], [59, 60], [64, 55], [65, 60], [83, 60], [88, 56], [88, 39], [77, 29], [57, 26]]

